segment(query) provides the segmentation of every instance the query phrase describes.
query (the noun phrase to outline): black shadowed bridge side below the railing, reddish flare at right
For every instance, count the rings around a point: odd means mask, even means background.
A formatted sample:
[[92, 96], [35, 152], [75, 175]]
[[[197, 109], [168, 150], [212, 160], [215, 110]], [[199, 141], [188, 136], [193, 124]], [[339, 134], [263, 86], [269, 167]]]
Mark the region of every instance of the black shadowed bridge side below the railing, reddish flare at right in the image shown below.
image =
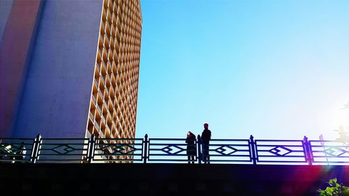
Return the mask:
[[0, 174], [1, 190], [117, 195], [316, 195], [329, 179], [349, 182], [349, 166], [308, 165], [1, 164]]

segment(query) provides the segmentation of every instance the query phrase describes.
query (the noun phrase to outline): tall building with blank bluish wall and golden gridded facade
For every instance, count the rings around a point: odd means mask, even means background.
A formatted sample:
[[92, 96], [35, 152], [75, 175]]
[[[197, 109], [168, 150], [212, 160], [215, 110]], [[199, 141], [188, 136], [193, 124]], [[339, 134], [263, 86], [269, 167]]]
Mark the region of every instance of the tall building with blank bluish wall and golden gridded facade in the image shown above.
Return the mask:
[[0, 8], [0, 137], [135, 137], [140, 0]]

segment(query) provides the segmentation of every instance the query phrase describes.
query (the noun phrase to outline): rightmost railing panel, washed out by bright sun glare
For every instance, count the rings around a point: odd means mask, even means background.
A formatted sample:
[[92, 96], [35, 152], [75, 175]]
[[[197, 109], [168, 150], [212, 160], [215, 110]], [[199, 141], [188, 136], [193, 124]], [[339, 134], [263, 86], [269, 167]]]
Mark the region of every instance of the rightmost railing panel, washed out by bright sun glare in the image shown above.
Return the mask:
[[335, 141], [309, 141], [313, 165], [348, 165], [349, 143]]

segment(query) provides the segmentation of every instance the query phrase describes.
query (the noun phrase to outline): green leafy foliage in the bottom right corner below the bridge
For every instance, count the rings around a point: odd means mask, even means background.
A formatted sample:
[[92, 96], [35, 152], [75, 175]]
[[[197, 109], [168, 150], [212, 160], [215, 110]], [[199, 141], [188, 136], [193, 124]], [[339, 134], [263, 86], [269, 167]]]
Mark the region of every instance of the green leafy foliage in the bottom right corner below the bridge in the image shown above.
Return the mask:
[[325, 190], [318, 190], [319, 196], [349, 196], [349, 187], [343, 183], [337, 183], [337, 179], [330, 179], [329, 186]]

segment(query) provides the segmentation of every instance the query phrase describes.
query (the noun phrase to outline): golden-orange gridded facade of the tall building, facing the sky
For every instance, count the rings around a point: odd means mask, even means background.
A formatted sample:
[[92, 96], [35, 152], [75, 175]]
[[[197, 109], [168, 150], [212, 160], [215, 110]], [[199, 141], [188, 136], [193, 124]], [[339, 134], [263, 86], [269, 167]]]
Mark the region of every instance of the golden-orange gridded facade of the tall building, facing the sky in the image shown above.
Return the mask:
[[140, 1], [103, 0], [87, 137], [135, 137], [141, 32]]

